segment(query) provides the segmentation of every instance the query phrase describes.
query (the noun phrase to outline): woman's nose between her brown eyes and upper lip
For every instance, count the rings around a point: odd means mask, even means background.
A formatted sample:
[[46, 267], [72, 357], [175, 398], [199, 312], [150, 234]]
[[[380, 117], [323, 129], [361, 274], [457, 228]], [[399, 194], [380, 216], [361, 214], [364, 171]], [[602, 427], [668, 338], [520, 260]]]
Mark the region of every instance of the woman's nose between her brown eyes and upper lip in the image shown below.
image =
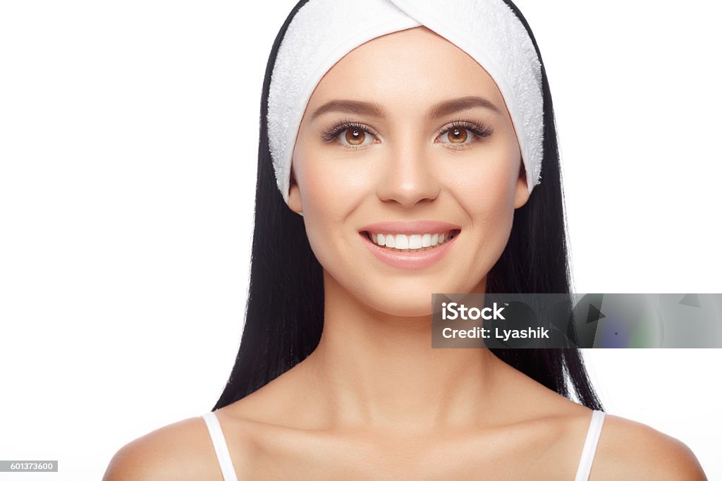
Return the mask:
[[432, 157], [429, 149], [410, 143], [388, 149], [376, 188], [378, 198], [407, 208], [436, 199], [440, 183]]

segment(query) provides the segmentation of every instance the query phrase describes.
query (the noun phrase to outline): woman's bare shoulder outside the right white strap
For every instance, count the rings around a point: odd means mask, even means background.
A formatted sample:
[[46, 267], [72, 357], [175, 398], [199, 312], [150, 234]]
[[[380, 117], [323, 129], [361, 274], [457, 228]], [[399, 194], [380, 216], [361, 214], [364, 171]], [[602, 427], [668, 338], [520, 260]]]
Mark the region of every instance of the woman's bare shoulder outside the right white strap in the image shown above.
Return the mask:
[[648, 425], [606, 415], [591, 480], [706, 480], [686, 444]]

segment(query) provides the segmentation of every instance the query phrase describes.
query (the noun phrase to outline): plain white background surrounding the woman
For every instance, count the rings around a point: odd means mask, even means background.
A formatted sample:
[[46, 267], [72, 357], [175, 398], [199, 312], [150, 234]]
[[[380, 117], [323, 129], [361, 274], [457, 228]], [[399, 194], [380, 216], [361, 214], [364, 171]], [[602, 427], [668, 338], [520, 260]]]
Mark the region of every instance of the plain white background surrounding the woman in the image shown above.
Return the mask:
[[[100, 479], [209, 411], [240, 341], [261, 84], [295, 0], [0, 4], [0, 459]], [[719, 6], [518, 0], [578, 293], [722, 293]], [[666, 6], [669, 5], [669, 6]], [[606, 409], [722, 477], [722, 350], [591, 350]]]

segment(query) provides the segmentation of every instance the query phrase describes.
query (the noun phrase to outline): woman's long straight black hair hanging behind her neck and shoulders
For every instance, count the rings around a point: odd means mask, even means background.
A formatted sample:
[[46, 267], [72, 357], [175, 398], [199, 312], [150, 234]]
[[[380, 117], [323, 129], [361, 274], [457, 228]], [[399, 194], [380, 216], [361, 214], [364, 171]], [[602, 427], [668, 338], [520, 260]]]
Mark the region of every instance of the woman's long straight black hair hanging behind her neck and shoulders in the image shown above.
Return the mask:
[[[504, 0], [534, 43], [516, 5]], [[287, 207], [277, 188], [269, 151], [269, 84], [288, 25], [308, 0], [292, 9], [274, 41], [261, 95], [256, 209], [245, 326], [230, 378], [213, 410], [238, 401], [300, 363], [318, 346], [323, 329], [323, 269], [311, 251], [303, 218]], [[487, 275], [487, 293], [570, 293], [564, 198], [552, 95], [541, 61], [544, 95], [543, 180], [516, 209], [508, 244]], [[529, 241], [529, 240], [533, 240]], [[535, 381], [601, 410], [578, 349], [491, 349]]]

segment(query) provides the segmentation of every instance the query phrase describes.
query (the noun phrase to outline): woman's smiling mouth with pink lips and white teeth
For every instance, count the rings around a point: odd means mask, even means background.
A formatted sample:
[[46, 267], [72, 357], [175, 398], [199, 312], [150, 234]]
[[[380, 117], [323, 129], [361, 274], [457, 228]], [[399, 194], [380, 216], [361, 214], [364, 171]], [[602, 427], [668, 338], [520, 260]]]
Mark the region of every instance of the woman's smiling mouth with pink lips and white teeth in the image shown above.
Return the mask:
[[367, 248], [391, 267], [424, 269], [445, 256], [461, 228], [432, 220], [378, 222], [359, 233]]

